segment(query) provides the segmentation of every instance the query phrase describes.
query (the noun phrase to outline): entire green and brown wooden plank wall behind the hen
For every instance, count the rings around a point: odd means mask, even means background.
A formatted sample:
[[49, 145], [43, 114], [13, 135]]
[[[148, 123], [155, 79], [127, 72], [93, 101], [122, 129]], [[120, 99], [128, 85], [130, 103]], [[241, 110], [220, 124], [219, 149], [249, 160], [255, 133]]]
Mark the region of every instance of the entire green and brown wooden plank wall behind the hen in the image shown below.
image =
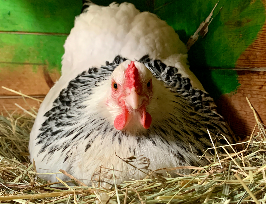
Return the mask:
[[[217, 0], [131, 2], [167, 21], [186, 43]], [[255, 124], [245, 97], [266, 123], [265, 7], [266, 0], [220, 0], [206, 36], [188, 52], [191, 70], [240, 136], [249, 135]], [[0, 85], [42, 99], [60, 76], [63, 44], [80, 9], [81, 1], [0, 0]], [[23, 99], [0, 88], [0, 111], [3, 105], [15, 109], [14, 103], [27, 108]]]

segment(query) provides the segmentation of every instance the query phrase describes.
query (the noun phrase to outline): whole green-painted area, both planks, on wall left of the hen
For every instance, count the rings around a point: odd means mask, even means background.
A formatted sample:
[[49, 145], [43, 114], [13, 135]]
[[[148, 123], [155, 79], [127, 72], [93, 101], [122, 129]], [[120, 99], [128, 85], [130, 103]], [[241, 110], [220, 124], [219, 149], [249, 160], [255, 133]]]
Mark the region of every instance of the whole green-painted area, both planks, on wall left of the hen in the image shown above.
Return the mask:
[[[82, 1], [71, 0], [0, 0], [0, 31], [69, 33], [81, 7]], [[43, 63], [60, 71], [65, 39], [2, 33], [0, 61]]]

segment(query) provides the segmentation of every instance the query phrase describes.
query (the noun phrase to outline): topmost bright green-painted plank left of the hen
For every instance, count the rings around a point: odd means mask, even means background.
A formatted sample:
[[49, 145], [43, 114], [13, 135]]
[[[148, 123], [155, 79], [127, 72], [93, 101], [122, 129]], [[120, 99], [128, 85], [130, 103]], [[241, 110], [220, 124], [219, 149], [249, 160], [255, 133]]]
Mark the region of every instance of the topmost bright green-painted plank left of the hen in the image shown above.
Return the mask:
[[81, 7], [81, 0], [0, 0], [0, 30], [69, 33]]

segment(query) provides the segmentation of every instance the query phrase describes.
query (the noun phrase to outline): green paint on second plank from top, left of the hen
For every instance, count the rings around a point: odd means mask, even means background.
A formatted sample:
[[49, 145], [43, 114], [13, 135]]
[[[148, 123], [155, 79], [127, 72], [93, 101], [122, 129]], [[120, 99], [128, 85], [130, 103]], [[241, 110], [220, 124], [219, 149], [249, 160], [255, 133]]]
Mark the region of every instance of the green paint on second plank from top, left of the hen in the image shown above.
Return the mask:
[[[61, 69], [66, 36], [0, 34], [0, 61], [47, 64]], [[1, 66], [1, 64], [0, 64]]]

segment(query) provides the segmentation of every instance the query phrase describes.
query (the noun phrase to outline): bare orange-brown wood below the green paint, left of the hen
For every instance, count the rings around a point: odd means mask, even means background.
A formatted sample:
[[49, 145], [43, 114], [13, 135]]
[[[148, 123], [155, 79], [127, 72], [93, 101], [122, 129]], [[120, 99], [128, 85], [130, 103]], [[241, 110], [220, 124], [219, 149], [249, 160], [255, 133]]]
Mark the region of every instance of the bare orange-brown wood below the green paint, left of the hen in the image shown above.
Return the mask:
[[[43, 100], [49, 91], [49, 86], [45, 81], [44, 68], [46, 65], [20, 64], [20, 63], [0, 63], [0, 112], [18, 109], [14, 104], [17, 103], [26, 110], [30, 107], [39, 107], [39, 102], [27, 99], [29, 106], [21, 96], [7, 91], [1, 86], [21, 91], [23, 94], [37, 97]], [[34, 71], [33, 71], [34, 70]], [[60, 73], [57, 70], [48, 72], [53, 82], [59, 79]], [[5, 107], [5, 108], [4, 108]], [[22, 112], [19, 110], [19, 112]]]

